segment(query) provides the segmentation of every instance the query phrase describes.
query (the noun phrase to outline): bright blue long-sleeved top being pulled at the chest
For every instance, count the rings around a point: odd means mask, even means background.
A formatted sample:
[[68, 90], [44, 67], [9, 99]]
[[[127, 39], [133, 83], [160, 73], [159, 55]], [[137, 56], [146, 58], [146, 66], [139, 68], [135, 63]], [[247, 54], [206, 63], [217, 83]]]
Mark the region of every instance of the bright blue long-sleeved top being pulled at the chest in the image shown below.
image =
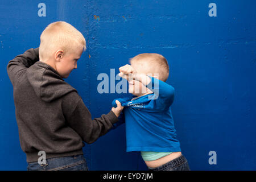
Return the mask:
[[[147, 88], [152, 94], [117, 98], [125, 106], [119, 122], [125, 122], [126, 151], [179, 152], [180, 142], [176, 139], [171, 105], [174, 101], [174, 88], [166, 82], [150, 77]], [[156, 99], [154, 99], [156, 98]], [[116, 107], [115, 100], [112, 105]]]

